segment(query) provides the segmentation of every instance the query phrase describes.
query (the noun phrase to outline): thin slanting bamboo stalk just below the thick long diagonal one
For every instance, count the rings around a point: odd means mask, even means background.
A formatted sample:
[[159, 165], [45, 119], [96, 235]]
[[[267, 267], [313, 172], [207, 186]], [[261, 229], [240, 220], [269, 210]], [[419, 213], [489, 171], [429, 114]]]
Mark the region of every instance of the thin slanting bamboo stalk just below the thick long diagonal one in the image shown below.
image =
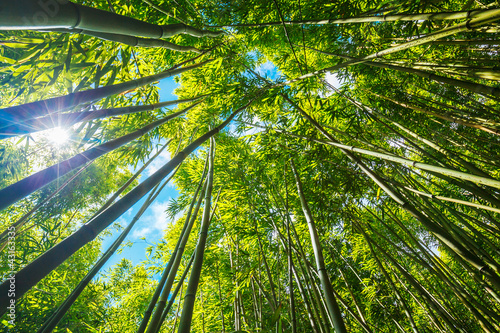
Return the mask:
[[85, 277], [78, 283], [78, 285], [73, 289], [71, 294], [64, 300], [64, 302], [57, 308], [56, 312], [50, 316], [47, 321], [44, 323], [42, 328], [38, 330], [38, 333], [50, 333], [54, 330], [56, 325], [62, 319], [62, 317], [68, 312], [70, 307], [74, 304], [80, 294], [83, 292], [85, 287], [92, 281], [92, 279], [96, 276], [97, 273], [101, 270], [101, 268], [108, 262], [108, 260], [113, 256], [113, 254], [118, 250], [118, 247], [123, 243], [125, 238], [128, 236], [132, 228], [135, 226], [136, 222], [139, 221], [141, 216], [144, 214], [146, 209], [155, 201], [158, 195], [161, 193], [163, 188], [170, 182], [170, 180], [174, 177], [177, 170], [172, 173], [172, 175], [163, 183], [163, 185], [159, 186], [159, 184], [153, 189], [153, 191], [149, 194], [146, 201], [143, 203], [137, 214], [134, 216], [132, 221], [129, 223], [127, 228], [125, 228], [120, 236], [111, 244], [111, 246], [106, 250], [106, 252], [101, 256], [99, 261], [92, 267], [92, 269], [85, 275]]

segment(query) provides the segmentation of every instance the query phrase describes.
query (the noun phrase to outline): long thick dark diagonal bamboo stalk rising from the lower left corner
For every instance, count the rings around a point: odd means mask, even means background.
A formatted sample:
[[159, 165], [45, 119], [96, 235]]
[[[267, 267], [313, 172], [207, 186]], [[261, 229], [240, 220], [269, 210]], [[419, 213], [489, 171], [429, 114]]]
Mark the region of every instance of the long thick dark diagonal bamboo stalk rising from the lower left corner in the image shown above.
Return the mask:
[[[206, 140], [217, 134], [225, 128], [231, 120], [242, 110], [246, 109], [253, 99], [245, 106], [236, 110], [231, 114], [226, 121], [219, 126], [203, 134], [201, 137], [192, 142], [183, 151], [178, 153], [167, 164], [156, 171], [152, 176], [144, 180], [136, 186], [132, 191], [127, 193], [123, 198], [117, 201], [114, 205], [106, 209], [100, 215], [96, 216], [92, 221], [83, 225], [75, 233], [61, 241], [59, 244], [52, 247], [50, 250], [42, 254], [33, 262], [25, 266], [16, 274], [17, 288], [16, 299], [20, 299], [28, 290], [35, 286], [41, 279], [47, 276], [52, 270], [56, 269], [73, 253], [78, 251], [88, 242], [97, 237], [105, 228], [107, 228], [114, 220], [125, 213], [144, 195], [146, 195], [153, 187], [155, 187], [163, 178], [179, 166], [184, 159], [189, 156], [196, 148], [198, 148]], [[0, 285], [0, 294], [6, 295], [9, 290], [10, 282], [5, 281]], [[9, 303], [7, 297], [0, 298], [0, 316], [2, 316]]]

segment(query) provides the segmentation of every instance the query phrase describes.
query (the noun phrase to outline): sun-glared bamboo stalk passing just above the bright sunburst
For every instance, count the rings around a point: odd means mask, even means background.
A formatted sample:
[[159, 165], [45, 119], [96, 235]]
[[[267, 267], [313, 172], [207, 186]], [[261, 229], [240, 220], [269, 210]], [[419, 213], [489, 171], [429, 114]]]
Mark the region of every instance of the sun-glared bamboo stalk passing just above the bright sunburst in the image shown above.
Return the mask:
[[55, 115], [48, 115], [45, 117], [28, 119], [16, 125], [10, 125], [0, 128], [0, 140], [10, 138], [12, 136], [44, 131], [46, 129], [53, 127], [70, 127], [74, 124], [94, 119], [122, 116], [125, 114], [132, 114], [144, 111], [153, 111], [155, 109], [160, 109], [170, 105], [193, 102], [198, 98], [200, 97], [184, 99], [184, 100], [176, 100], [176, 101], [167, 101], [150, 105], [126, 106], [115, 109], [100, 109], [97, 111], [57, 113]]

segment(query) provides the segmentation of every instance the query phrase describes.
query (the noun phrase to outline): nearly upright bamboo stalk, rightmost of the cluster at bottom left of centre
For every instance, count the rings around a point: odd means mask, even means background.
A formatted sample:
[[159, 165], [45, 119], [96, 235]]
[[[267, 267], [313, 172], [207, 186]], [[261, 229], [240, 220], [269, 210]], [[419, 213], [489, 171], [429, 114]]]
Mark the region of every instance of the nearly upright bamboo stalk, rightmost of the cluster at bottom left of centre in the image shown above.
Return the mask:
[[[203, 256], [205, 253], [205, 246], [208, 238], [208, 228], [210, 226], [210, 210], [212, 204], [212, 189], [214, 181], [214, 140], [212, 138], [209, 150], [210, 158], [208, 163], [208, 179], [207, 189], [205, 194], [205, 205], [203, 207], [203, 219], [200, 227], [200, 236], [195, 250], [195, 260], [191, 276], [189, 277], [188, 286], [186, 288], [186, 295], [184, 296], [184, 304], [182, 307], [182, 315], [179, 322], [179, 333], [191, 332], [191, 321], [193, 318], [194, 302], [196, 299], [196, 291], [200, 281], [201, 268], [203, 265]], [[149, 332], [148, 332], [149, 333]]]

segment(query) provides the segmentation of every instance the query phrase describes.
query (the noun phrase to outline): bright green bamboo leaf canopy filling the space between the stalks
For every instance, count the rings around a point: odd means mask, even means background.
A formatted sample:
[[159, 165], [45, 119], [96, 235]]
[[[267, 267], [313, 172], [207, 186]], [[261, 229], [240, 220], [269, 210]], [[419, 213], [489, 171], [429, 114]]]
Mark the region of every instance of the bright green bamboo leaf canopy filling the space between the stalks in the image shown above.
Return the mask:
[[[488, 32], [498, 31], [498, 23], [373, 59], [385, 67], [365, 62], [325, 75], [323, 69], [338, 66], [345, 57], [372, 55], [463, 20], [283, 26], [276, 8], [285, 21], [308, 21], [469, 11], [497, 8], [497, 2], [77, 2], [158, 25], [185, 22], [212, 30], [220, 26], [225, 34], [216, 38], [180, 34], [168, 39], [206, 51], [193, 61], [193, 53], [129, 47], [87, 35], [0, 32], [2, 107], [213, 59], [176, 77], [179, 99], [204, 96], [188, 113], [90, 164], [47, 202], [75, 173], [0, 212], [3, 232], [36, 207], [17, 231], [17, 270], [85, 224], [130, 178], [129, 169], [144, 163], [159, 145], [171, 139], [168, 150], [174, 156], [252, 101], [216, 136], [213, 201], [215, 193], [220, 195], [217, 204], [213, 202], [192, 331], [291, 332], [294, 325], [297, 332], [331, 331], [290, 160], [299, 170], [326, 270], [350, 332], [367, 331], [366, 327], [373, 332], [500, 331], [498, 188], [422, 171], [415, 163], [405, 166], [357, 153], [354, 160], [329, 145], [330, 138], [299, 111], [342, 144], [498, 179], [499, 56], [497, 33]], [[276, 24], [244, 26], [267, 22]], [[275, 67], [272, 78], [263, 74], [267, 64]], [[414, 75], [395, 66], [427, 74]], [[304, 77], [307, 73], [312, 75]], [[469, 82], [472, 88], [443, 83], [437, 76]], [[333, 88], [325, 84], [332, 78], [340, 82]], [[492, 93], [476, 93], [479, 84]], [[152, 104], [159, 98], [156, 85], [146, 85], [63, 112]], [[44, 134], [3, 140], [0, 188], [184, 107], [83, 121], [68, 129], [71, 143], [64, 147], [52, 145]], [[208, 142], [178, 170], [174, 182], [179, 197], [170, 201], [165, 212], [169, 218], [187, 213], [207, 150]], [[379, 177], [378, 182], [361, 163]], [[404, 204], [393, 200], [395, 196]], [[444, 230], [447, 242], [409, 207]], [[148, 249], [146, 262], [134, 266], [124, 259], [94, 279], [55, 331], [136, 332], [184, 221], [182, 216], [167, 227], [163, 238]], [[197, 246], [201, 217], [195, 221], [181, 267], [173, 273], [176, 282]], [[43, 325], [97, 261], [103, 236], [18, 302], [11, 331], [35, 332]], [[2, 237], [0, 256], [7, 262]], [[457, 244], [484, 266], [474, 267], [456, 250]], [[6, 266], [0, 269], [2, 275], [8, 271]], [[184, 296], [185, 291], [177, 296], [160, 332], [176, 330], [180, 317], [176, 311]], [[8, 326], [5, 320], [2, 323]]]

